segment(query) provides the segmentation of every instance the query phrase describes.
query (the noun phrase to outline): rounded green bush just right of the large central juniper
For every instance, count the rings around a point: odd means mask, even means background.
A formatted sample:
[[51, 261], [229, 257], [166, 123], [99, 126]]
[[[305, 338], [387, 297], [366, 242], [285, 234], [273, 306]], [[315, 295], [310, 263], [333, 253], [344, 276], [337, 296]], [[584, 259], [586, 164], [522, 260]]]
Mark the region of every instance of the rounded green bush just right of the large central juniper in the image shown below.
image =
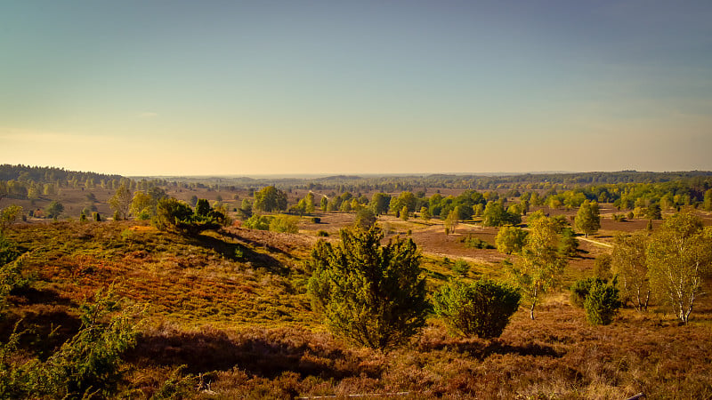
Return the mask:
[[483, 279], [443, 286], [433, 297], [433, 307], [451, 332], [490, 339], [502, 334], [520, 300], [514, 287]]

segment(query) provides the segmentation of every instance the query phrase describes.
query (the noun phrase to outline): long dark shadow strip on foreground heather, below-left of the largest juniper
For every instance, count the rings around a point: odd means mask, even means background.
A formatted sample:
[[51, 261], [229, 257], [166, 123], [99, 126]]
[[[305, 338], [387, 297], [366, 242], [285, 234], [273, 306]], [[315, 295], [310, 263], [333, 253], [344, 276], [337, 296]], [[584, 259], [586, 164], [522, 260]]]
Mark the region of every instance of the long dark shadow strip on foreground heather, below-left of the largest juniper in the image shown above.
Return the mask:
[[[320, 348], [306, 340], [240, 336], [230, 338], [223, 332], [175, 332], [170, 335], [145, 335], [128, 355], [131, 362], [150, 365], [186, 365], [186, 372], [205, 373], [239, 368], [257, 376], [273, 379], [284, 372], [303, 377], [320, 376], [341, 379], [353, 374], [377, 375], [380, 371], [362, 371], [358, 364], [344, 362], [338, 348]], [[360, 370], [360, 371], [353, 371]]]

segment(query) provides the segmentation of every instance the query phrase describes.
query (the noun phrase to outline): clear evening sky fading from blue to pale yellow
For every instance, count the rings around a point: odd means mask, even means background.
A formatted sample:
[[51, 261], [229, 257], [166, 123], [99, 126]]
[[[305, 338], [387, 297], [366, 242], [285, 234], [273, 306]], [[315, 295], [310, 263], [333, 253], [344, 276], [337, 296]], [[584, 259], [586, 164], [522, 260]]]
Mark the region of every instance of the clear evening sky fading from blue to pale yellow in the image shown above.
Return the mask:
[[712, 2], [0, 0], [0, 164], [712, 170]]

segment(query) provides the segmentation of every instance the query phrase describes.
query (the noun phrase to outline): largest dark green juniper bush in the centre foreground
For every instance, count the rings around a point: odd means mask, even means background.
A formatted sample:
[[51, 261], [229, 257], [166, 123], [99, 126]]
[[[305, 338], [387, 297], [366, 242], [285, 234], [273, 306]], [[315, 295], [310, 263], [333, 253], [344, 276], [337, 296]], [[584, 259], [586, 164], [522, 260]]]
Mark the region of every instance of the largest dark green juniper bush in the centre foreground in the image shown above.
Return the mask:
[[381, 246], [383, 232], [342, 229], [341, 243], [320, 241], [312, 250], [308, 292], [328, 327], [354, 343], [390, 348], [425, 324], [425, 278], [411, 239]]

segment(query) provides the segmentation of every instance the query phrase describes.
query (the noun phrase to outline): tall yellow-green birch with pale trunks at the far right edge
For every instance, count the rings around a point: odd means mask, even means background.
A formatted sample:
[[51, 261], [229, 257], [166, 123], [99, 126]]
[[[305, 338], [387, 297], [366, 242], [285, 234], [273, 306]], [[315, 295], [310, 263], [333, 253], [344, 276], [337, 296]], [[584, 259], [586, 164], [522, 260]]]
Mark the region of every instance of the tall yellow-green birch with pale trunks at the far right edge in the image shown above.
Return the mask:
[[712, 268], [712, 228], [689, 212], [668, 218], [651, 236], [647, 267], [653, 292], [686, 324]]

